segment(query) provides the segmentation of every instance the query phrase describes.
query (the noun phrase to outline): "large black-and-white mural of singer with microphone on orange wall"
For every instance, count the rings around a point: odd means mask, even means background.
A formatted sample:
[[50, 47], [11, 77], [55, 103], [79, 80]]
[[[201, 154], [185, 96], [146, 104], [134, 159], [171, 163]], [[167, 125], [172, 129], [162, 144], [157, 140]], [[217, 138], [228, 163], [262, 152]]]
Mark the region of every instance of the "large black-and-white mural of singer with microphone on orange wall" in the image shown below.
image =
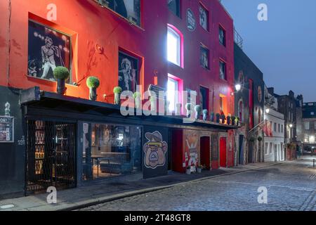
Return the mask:
[[69, 36], [29, 20], [28, 75], [55, 81], [53, 70], [56, 67], [70, 70], [70, 48]]

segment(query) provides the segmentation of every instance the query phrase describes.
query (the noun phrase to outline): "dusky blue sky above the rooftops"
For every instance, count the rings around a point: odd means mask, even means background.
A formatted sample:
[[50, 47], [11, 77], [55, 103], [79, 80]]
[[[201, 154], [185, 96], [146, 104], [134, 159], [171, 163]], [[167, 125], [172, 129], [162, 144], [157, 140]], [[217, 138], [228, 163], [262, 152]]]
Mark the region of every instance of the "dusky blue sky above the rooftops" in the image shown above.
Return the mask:
[[[244, 52], [277, 94], [316, 101], [316, 0], [222, 0], [244, 39]], [[267, 4], [268, 21], [259, 21]]]

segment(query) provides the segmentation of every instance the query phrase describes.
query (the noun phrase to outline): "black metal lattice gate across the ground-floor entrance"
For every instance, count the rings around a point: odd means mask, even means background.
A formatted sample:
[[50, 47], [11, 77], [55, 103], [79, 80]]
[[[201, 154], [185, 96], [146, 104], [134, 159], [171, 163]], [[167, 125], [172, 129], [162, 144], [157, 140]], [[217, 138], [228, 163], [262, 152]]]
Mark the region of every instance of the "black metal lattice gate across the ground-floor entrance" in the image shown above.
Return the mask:
[[27, 120], [27, 193], [73, 188], [75, 124]]

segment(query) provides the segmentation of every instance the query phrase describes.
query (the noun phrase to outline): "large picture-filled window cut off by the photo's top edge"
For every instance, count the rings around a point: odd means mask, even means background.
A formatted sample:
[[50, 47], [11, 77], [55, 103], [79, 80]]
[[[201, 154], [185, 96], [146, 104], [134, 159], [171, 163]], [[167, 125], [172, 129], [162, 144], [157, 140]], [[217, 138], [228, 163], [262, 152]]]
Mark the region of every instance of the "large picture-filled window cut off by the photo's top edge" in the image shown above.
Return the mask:
[[140, 0], [97, 0], [99, 4], [140, 26]]

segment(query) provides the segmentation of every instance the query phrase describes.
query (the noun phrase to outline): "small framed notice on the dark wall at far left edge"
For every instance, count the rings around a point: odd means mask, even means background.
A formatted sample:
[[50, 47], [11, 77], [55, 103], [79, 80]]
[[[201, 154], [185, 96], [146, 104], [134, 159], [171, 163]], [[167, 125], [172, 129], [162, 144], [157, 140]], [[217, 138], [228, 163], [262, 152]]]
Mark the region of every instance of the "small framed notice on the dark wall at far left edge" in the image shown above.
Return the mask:
[[14, 142], [14, 117], [0, 117], [0, 143]]

